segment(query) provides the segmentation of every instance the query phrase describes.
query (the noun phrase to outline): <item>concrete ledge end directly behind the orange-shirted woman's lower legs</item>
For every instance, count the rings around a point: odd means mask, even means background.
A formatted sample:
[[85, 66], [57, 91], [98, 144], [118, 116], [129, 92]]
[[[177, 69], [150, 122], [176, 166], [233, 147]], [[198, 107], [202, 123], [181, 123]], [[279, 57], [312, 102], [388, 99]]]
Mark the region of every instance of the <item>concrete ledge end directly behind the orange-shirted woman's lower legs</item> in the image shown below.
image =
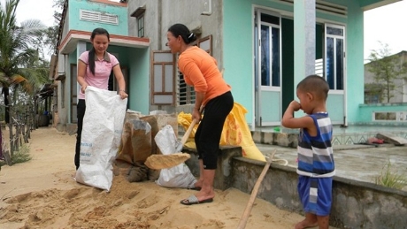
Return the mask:
[[[199, 177], [199, 161], [196, 149], [184, 148], [182, 151], [191, 155], [191, 158], [185, 164], [188, 165], [189, 170], [195, 177]], [[213, 182], [215, 188], [226, 190], [232, 187], [232, 159], [236, 156], [242, 156], [242, 147], [221, 146], [219, 148], [218, 168]]]

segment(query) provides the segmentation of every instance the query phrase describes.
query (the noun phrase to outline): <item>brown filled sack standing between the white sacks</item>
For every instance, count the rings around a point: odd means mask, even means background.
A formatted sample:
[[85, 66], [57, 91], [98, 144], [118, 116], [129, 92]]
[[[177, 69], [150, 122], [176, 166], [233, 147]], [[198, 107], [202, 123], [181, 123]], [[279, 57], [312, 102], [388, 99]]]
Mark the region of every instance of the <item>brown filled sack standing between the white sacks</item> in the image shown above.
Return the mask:
[[178, 128], [175, 114], [144, 116], [140, 112], [127, 111], [116, 156], [115, 174], [126, 176], [129, 182], [158, 179], [159, 171], [151, 170], [144, 162], [152, 154], [161, 154], [154, 137], [167, 124]]

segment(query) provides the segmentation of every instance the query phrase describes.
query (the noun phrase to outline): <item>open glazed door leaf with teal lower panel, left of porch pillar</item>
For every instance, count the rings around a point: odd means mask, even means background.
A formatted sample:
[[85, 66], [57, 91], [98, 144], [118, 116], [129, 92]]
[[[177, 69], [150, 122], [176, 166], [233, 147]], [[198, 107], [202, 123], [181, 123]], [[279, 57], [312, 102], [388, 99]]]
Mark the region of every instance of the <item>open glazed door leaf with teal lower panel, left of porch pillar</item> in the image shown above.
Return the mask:
[[255, 11], [256, 126], [280, 125], [280, 15]]

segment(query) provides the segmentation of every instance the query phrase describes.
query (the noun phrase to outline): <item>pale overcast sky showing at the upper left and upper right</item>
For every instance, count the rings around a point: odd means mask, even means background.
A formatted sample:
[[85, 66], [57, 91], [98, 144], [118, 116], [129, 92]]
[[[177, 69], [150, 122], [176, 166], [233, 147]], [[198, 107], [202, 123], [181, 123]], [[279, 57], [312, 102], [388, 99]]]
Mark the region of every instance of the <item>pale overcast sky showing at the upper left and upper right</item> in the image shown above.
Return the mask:
[[[4, 4], [5, 0], [0, 0]], [[119, 2], [119, 0], [112, 0]], [[40, 4], [41, 3], [41, 4]], [[45, 26], [52, 26], [53, 0], [20, 0], [17, 8], [19, 22], [40, 19]], [[388, 43], [392, 53], [407, 50], [407, 0], [365, 11], [365, 58], [372, 50], [380, 49], [380, 42]]]

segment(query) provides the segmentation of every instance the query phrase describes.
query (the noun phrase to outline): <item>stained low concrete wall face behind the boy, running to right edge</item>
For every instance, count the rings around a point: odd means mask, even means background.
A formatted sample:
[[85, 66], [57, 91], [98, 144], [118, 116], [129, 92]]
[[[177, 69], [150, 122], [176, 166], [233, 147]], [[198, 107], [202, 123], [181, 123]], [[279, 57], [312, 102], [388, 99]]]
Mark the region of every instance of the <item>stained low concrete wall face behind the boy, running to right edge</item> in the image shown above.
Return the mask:
[[[232, 187], [251, 193], [265, 163], [234, 157]], [[272, 164], [257, 197], [280, 209], [302, 212], [296, 168]], [[407, 192], [372, 183], [334, 177], [330, 225], [339, 228], [403, 228], [407, 225]]]

